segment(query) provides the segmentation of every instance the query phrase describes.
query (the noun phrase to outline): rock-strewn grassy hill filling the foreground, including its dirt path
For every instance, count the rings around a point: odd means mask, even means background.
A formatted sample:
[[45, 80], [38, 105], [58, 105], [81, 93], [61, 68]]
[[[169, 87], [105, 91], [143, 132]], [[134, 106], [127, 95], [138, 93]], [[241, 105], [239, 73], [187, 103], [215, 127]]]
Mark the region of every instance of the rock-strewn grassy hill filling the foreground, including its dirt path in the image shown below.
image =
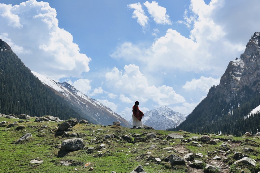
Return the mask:
[[[1, 114], [0, 114], [1, 115]], [[197, 140], [203, 135], [179, 131], [163, 131], [152, 129], [132, 129], [121, 126], [102, 126], [98, 124], [76, 124], [67, 130], [66, 134], [58, 135], [57, 129], [63, 122], [34, 122], [32, 117], [27, 122], [19, 119], [9, 119], [0, 116], [0, 172], [19, 173], [57, 173], [57, 172], [108, 172], [130, 173], [137, 166], [142, 165], [147, 173], [181, 173], [181, 172], [257, 172], [260, 171], [260, 140], [258, 137], [233, 137], [232, 135], [208, 136], [215, 139], [215, 144], [209, 141]], [[6, 123], [1, 123], [6, 121]], [[10, 124], [17, 122], [15, 126]], [[25, 133], [32, 137], [17, 142]], [[62, 151], [60, 144], [76, 134], [84, 141], [85, 148], [77, 151]], [[155, 134], [155, 136], [149, 134]], [[167, 135], [178, 133], [184, 138], [169, 139]], [[111, 138], [105, 138], [107, 134]], [[129, 138], [126, 138], [127, 135]], [[139, 139], [139, 140], [137, 140]], [[192, 139], [192, 140], [191, 140]], [[196, 144], [196, 142], [198, 142]], [[223, 142], [227, 144], [225, 148]], [[102, 145], [101, 145], [102, 144]], [[199, 147], [198, 145], [201, 145]], [[93, 153], [87, 150], [93, 147]], [[169, 148], [170, 147], [170, 148]], [[244, 148], [251, 148], [247, 151]], [[248, 164], [234, 164], [234, 152], [247, 154], [248, 158], [256, 161], [256, 166]], [[101, 153], [101, 154], [100, 154]], [[186, 158], [185, 164], [171, 165], [168, 156], [175, 154], [181, 158], [192, 153], [191, 158]], [[199, 154], [200, 153], [200, 154]], [[218, 159], [214, 159], [218, 156]], [[158, 159], [159, 158], [159, 159]], [[31, 163], [33, 159], [42, 163]], [[161, 161], [160, 161], [161, 160]], [[197, 161], [202, 164], [198, 165]], [[85, 167], [86, 163], [90, 166]], [[68, 164], [65, 166], [64, 164]], [[205, 169], [206, 164], [217, 167], [217, 171]], [[93, 171], [89, 171], [93, 167]], [[241, 168], [237, 170], [236, 168]], [[220, 171], [222, 170], [222, 171]]]

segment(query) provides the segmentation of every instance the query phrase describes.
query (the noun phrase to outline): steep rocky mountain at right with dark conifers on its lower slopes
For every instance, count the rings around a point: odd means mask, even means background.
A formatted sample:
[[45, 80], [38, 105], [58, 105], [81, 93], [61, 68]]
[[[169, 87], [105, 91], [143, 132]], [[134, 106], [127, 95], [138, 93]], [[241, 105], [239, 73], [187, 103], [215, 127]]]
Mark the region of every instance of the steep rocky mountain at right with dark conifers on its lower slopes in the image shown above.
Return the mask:
[[[253, 34], [240, 58], [230, 61], [219, 85], [210, 88], [205, 99], [187, 119], [170, 130], [194, 133], [222, 132], [239, 136], [260, 129], [259, 112], [246, 116], [260, 105], [260, 33]], [[245, 116], [247, 118], [245, 118]]]

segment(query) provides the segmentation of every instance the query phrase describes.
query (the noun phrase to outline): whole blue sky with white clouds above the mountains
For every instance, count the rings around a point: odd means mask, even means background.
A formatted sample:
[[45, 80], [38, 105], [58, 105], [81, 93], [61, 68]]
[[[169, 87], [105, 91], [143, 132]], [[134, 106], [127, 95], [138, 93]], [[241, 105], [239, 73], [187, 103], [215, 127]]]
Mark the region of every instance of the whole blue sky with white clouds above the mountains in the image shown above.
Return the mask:
[[112, 111], [189, 114], [260, 32], [259, 0], [0, 1], [0, 39], [32, 71]]

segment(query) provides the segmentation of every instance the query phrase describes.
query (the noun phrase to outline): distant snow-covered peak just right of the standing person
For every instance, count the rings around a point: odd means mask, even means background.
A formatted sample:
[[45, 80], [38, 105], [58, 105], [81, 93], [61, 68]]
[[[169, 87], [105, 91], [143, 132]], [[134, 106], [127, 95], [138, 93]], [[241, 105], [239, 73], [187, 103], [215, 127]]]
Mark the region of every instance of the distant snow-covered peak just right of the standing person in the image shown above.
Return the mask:
[[145, 112], [142, 122], [144, 125], [151, 126], [154, 129], [165, 130], [177, 125], [185, 120], [186, 115], [179, 112], [174, 112], [171, 108], [162, 106]]

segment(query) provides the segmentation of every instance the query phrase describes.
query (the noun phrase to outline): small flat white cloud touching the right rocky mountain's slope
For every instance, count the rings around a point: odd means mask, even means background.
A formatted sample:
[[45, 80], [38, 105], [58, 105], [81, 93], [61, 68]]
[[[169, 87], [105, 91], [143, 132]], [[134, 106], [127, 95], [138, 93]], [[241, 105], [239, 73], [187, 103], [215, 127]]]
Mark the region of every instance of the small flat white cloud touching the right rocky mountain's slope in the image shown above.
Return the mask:
[[219, 81], [220, 78], [214, 79], [212, 77], [206, 78], [204, 76], [201, 76], [199, 79], [192, 79], [191, 81], [187, 81], [182, 88], [184, 88], [186, 91], [199, 89], [205, 93], [208, 93], [210, 87], [212, 87], [213, 85], [218, 85]]

